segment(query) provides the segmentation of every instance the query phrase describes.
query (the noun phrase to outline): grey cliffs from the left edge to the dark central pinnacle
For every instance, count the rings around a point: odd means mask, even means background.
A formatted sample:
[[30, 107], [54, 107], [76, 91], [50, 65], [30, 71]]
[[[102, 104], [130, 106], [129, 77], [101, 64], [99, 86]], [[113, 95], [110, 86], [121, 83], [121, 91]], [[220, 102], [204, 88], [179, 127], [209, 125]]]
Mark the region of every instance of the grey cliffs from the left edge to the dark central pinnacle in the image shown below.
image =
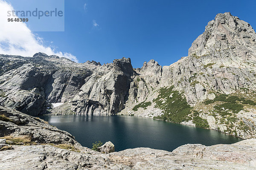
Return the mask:
[[32, 58], [1, 55], [2, 106], [30, 115], [51, 107], [49, 103], [72, 100], [77, 114], [114, 114], [128, 98], [131, 60], [115, 59], [101, 66], [37, 53]]

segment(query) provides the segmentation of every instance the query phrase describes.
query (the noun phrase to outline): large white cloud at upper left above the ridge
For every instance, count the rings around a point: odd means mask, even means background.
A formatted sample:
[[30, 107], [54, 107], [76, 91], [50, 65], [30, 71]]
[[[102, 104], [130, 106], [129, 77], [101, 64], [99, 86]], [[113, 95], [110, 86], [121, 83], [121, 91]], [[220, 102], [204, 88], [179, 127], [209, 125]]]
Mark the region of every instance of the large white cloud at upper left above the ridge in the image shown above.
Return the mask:
[[32, 57], [35, 53], [43, 52], [78, 62], [76, 56], [44, 45], [43, 38], [33, 34], [25, 23], [7, 22], [7, 11], [12, 10], [14, 9], [11, 4], [0, 0], [0, 54]]

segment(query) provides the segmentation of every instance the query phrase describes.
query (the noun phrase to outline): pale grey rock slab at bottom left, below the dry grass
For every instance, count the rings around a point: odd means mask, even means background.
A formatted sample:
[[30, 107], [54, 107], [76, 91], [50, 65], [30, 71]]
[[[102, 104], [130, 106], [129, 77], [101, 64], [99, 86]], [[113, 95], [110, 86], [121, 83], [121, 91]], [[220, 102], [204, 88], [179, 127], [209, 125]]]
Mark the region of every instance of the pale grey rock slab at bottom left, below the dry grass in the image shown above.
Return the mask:
[[0, 151], [0, 158], [0, 170], [131, 169], [95, 152], [77, 153], [49, 145], [15, 146], [14, 150]]

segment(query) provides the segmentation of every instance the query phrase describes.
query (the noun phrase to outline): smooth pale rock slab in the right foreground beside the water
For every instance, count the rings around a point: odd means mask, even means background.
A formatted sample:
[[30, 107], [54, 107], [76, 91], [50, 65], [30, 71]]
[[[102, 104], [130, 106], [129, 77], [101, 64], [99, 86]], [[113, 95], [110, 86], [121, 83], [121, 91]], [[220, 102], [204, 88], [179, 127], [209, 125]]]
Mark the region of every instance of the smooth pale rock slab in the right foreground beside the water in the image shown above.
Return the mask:
[[173, 150], [173, 153], [200, 159], [236, 162], [255, 168], [255, 142], [256, 139], [248, 139], [235, 144], [217, 144], [208, 147], [202, 144], [186, 144]]

